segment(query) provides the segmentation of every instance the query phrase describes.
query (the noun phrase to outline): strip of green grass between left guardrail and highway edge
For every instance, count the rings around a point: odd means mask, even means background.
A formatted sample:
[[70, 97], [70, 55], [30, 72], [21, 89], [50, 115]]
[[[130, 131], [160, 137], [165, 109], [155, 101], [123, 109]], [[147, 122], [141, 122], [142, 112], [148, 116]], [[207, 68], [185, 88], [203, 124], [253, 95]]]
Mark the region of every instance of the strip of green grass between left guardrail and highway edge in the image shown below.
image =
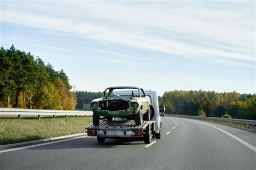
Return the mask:
[[0, 145], [83, 133], [92, 117], [0, 118]]

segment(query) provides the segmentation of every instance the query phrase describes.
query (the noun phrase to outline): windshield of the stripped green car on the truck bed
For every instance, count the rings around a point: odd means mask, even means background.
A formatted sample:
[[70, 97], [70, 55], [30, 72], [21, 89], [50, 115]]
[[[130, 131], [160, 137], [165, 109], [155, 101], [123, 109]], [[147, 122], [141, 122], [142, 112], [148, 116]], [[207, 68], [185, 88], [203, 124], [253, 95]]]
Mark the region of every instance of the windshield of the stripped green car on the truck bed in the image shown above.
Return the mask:
[[105, 97], [112, 97], [112, 96], [139, 97], [139, 89], [137, 89], [137, 88], [110, 88], [110, 89], [106, 89]]

